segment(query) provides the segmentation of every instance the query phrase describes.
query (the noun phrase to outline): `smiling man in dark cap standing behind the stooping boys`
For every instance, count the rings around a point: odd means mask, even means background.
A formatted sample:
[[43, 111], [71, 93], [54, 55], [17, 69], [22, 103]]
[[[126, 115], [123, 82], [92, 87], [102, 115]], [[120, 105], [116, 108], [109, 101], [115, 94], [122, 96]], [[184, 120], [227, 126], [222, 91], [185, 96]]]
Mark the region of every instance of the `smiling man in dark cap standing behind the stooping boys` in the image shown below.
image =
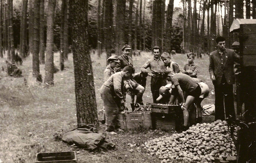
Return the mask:
[[132, 59], [129, 56], [129, 53], [131, 52], [131, 47], [129, 45], [124, 45], [122, 48], [123, 54], [118, 56], [119, 63], [116, 66], [116, 72], [122, 71], [124, 67], [126, 66], [132, 66]]

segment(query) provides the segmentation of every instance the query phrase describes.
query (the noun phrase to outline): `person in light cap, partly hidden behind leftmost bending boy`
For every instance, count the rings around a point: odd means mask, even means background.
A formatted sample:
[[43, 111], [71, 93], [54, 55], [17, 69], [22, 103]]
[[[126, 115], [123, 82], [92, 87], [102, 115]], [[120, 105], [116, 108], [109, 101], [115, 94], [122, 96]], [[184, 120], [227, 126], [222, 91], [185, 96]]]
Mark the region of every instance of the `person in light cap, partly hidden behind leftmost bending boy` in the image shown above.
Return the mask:
[[104, 81], [107, 81], [108, 78], [115, 73], [114, 68], [116, 67], [116, 64], [120, 61], [118, 60], [116, 55], [112, 55], [107, 60], [108, 66], [104, 70]]

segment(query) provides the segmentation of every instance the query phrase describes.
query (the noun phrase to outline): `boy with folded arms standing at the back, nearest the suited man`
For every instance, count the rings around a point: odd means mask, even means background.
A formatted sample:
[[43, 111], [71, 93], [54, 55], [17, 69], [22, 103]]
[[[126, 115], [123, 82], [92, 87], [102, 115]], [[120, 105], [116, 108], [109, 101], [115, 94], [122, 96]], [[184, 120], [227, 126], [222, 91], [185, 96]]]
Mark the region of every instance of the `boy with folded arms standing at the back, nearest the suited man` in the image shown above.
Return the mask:
[[188, 72], [192, 78], [197, 77], [198, 65], [194, 63], [195, 54], [190, 52], [187, 54], [187, 63], [184, 65], [184, 70]]

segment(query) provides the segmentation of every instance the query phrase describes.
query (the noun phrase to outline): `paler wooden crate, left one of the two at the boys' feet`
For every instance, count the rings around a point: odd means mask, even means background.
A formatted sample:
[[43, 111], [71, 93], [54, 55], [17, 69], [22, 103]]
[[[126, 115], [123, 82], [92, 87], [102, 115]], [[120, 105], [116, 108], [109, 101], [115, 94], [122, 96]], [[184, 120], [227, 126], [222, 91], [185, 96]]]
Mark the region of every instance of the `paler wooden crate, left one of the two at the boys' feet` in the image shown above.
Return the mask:
[[[151, 128], [151, 115], [150, 111], [134, 111], [125, 112], [119, 115], [119, 121], [122, 129], [131, 128]], [[99, 120], [102, 120], [103, 111], [99, 111]]]

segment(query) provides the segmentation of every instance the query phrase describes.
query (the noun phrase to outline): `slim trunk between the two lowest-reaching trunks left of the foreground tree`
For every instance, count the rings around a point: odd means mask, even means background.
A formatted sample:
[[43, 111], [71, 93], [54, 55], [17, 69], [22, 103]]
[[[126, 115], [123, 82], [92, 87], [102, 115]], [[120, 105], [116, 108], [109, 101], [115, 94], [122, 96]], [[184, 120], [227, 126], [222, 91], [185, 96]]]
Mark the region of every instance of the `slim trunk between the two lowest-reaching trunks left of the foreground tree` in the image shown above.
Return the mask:
[[39, 45], [39, 63], [45, 64], [45, 18], [44, 18], [45, 0], [40, 0], [40, 45]]

